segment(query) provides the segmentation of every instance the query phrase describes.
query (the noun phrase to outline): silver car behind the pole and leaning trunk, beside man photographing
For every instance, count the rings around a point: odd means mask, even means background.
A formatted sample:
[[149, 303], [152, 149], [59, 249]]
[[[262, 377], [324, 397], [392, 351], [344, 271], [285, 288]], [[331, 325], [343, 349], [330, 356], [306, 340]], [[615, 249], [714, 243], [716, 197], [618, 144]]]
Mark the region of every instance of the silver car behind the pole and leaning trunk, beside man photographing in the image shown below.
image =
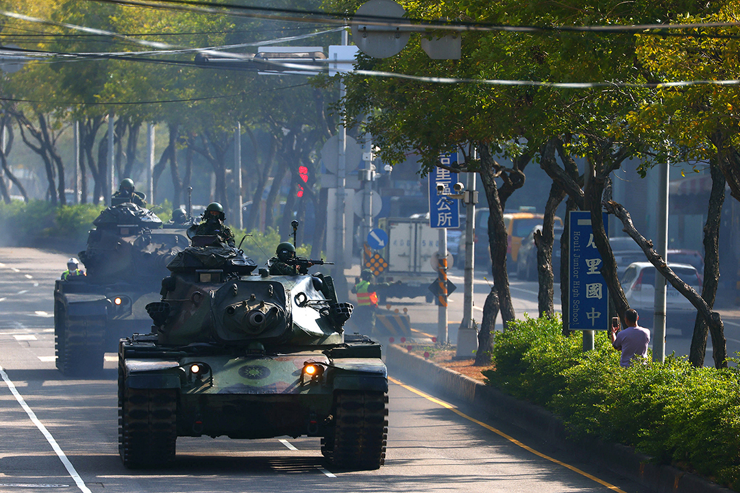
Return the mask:
[[[669, 262], [668, 266], [687, 285], [699, 291], [699, 285], [701, 285], [699, 271], [696, 271], [693, 265]], [[627, 302], [630, 304], [630, 307], [639, 313], [640, 319], [638, 324], [648, 329], [652, 329], [653, 327], [655, 274], [656, 269], [650, 262], [633, 262], [625, 269], [625, 274], [620, 281], [622, 283], [622, 290], [625, 291]], [[684, 337], [691, 337], [693, 335], [696, 308], [670, 284], [667, 285], [666, 289], [665, 312], [666, 327], [681, 330], [681, 334]]]

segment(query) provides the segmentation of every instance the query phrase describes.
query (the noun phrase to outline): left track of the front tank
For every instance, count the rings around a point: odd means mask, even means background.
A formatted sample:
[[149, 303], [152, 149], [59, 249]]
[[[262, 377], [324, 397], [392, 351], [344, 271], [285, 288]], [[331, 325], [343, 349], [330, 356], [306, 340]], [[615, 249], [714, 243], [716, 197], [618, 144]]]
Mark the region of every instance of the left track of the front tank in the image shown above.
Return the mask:
[[118, 377], [118, 453], [129, 469], [175, 460], [177, 394], [174, 389], [124, 389]]

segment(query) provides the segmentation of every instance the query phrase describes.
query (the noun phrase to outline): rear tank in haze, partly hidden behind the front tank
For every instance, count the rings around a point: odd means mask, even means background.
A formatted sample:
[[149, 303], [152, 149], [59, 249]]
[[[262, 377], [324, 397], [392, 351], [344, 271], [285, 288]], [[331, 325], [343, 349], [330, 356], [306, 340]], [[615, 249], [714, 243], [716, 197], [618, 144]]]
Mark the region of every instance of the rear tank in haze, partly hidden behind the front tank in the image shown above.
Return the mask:
[[132, 203], [106, 208], [79, 253], [87, 276], [57, 280], [54, 289], [56, 367], [64, 375], [102, 370], [104, 353], [149, 322], [166, 265], [189, 245], [185, 228], [164, 228]]

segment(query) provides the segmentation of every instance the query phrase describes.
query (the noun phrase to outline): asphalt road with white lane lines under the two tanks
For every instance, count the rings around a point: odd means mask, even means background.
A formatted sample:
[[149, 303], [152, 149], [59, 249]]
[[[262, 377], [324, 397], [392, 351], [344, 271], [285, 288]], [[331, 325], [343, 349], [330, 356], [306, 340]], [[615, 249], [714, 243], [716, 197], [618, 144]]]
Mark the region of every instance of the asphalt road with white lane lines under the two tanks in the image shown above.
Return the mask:
[[[391, 378], [386, 466], [326, 468], [317, 438], [180, 438], [175, 464], [118, 458], [115, 358], [54, 367], [53, 281], [67, 256], [0, 248], [0, 492], [628, 492], [645, 490]], [[391, 375], [392, 377], [393, 375]]]

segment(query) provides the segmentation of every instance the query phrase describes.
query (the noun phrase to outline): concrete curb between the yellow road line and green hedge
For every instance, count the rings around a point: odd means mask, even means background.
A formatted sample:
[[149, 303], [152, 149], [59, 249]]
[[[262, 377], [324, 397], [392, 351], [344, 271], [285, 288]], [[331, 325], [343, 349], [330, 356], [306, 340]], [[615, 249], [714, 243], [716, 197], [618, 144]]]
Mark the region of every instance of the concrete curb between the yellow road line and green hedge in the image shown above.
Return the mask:
[[524, 429], [560, 449], [575, 452], [583, 460], [627, 477], [657, 493], [731, 493], [733, 490], [711, 483], [690, 472], [650, 462], [650, 457], [633, 447], [598, 440], [575, 441], [568, 438], [565, 425], [542, 407], [522, 402], [494, 387], [460, 373], [438, 367], [420, 356], [409, 354], [395, 344], [386, 347], [388, 370], [411, 381], [434, 387], [449, 398], [463, 401], [501, 421]]

